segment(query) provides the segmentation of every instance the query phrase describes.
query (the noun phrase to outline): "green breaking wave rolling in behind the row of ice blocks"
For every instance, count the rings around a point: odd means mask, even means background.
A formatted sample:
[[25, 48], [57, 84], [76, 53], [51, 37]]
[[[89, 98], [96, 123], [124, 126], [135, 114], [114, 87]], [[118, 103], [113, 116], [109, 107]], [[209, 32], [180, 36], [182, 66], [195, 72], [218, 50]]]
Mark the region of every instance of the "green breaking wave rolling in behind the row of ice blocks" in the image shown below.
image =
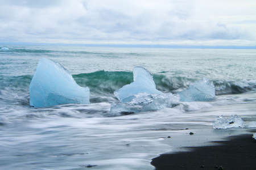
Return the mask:
[[[133, 73], [129, 71], [96, 71], [93, 73], [82, 73], [72, 75], [77, 84], [82, 87], [89, 87], [92, 97], [114, 97], [114, 91], [133, 82]], [[164, 93], [176, 94], [189, 87], [189, 84], [196, 82], [196, 79], [189, 79], [182, 76], [167, 76], [153, 74], [156, 89]], [[0, 76], [0, 90], [11, 90], [13, 92], [24, 92], [28, 94], [32, 75], [22, 76]], [[244, 92], [256, 91], [255, 80], [212, 80], [216, 95], [242, 94]], [[0, 92], [1, 98], [1, 92]], [[27, 100], [27, 99], [26, 99]], [[107, 101], [106, 99], [102, 99]], [[97, 101], [97, 103], [100, 101]]]

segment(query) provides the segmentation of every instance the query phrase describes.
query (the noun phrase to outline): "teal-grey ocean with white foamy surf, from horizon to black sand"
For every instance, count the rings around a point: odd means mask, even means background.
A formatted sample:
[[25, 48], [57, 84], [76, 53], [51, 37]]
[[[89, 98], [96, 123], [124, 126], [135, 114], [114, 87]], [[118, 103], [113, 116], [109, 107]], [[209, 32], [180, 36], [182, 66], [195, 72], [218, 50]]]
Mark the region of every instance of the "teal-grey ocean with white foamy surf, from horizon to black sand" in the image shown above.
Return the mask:
[[[246, 125], [256, 121], [256, 50], [1, 47], [0, 169], [154, 169], [150, 162], [159, 154], [255, 130]], [[31, 107], [29, 86], [40, 58], [59, 62], [89, 87], [90, 104]], [[113, 114], [110, 108], [120, 103], [114, 91], [133, 82], [135, 66], [147, 69], [165, 94], [207, 78], [216, 96]], [[217, 117], [235, 114], [242, 127], [213, 128]]]

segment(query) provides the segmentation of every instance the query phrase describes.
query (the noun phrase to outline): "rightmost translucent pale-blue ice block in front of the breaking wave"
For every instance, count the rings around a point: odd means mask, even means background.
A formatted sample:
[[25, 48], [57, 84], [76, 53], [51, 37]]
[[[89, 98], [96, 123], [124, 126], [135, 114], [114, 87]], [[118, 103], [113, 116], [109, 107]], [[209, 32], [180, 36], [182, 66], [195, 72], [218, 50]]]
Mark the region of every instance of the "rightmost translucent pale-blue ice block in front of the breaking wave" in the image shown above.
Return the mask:
[[204, 78], [192, 83], [189, 88], [178, 93], [180, 101], [209, 101], [215, 97], [215, 88], [212, 82]]

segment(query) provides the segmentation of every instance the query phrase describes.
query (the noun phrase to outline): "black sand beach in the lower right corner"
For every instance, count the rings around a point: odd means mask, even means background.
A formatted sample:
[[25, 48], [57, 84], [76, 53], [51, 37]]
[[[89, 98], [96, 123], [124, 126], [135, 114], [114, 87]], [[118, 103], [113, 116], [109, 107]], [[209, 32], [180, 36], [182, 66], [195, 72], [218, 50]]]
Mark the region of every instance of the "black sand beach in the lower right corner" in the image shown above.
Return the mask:
[[152, 159], [155, 169], [256, 169], [253, 133], [216, 141], [216, 146], [187, 147], [190, 151]]

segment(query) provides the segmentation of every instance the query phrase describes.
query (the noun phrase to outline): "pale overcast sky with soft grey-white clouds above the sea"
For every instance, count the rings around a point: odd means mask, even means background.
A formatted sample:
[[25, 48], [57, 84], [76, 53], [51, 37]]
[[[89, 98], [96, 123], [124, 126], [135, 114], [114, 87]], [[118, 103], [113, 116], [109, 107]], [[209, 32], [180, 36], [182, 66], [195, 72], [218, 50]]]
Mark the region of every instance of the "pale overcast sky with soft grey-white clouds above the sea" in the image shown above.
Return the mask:
[[255, 0], [0, 0], [0, 44], [256, 45]]

